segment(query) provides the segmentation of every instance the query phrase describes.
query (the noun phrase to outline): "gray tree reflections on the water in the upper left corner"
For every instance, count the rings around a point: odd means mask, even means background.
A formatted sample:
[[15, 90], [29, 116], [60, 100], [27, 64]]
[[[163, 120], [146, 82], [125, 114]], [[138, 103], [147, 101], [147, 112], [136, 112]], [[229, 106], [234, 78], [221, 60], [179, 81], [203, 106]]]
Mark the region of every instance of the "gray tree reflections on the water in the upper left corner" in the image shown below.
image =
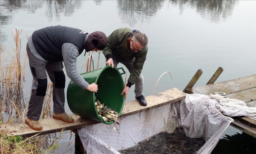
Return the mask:
[[[47, 0], [47, 1], [27, 1], [27, 0], [0, 0], [0, 42], [6, 41], [6, 32], [2, 29], [12, 22], [12, 16], [17, 10], [26, 10], [35, 13], [46, 5], [45, 15], [48, 21], [60, 20], [60, 14], [64, 16], [72, 16], [76, 9], [81, 9], [82, 1], [66, 1], [66, 0]], [[101, 3], [100, 1], [96, 3]]]

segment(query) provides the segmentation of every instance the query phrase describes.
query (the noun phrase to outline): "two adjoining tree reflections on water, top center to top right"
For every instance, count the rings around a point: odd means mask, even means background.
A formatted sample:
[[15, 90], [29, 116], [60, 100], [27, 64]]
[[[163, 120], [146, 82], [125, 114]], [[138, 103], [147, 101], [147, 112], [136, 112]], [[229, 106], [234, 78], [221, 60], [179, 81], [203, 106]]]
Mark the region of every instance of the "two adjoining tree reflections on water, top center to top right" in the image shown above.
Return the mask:
[[[117, 1], [117, 8], [120, 18], [133, 26], [138, 21], [148, 22], [164, 6], [164, 2], [162, 0]], [[210, 22], [219, 22], [230, 18], [235, 5], [238, 3], [234, 0], [169, 0], [168, 2], [178, 6], [181, 13], [187, 7], [195, 8], [204, 19]]]

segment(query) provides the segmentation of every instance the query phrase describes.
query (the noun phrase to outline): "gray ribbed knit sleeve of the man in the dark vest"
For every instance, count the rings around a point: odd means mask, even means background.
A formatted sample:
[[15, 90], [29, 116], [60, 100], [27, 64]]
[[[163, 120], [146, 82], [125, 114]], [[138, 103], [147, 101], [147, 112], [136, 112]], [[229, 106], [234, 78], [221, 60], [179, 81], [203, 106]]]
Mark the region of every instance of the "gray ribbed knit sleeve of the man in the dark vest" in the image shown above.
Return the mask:
[[68, 77], [82, 89], [86, 89], [89, 84], [76, 69], [76, 58], [79, 56], [78, 48], [71, 43], [62, 45], [62, 57]]

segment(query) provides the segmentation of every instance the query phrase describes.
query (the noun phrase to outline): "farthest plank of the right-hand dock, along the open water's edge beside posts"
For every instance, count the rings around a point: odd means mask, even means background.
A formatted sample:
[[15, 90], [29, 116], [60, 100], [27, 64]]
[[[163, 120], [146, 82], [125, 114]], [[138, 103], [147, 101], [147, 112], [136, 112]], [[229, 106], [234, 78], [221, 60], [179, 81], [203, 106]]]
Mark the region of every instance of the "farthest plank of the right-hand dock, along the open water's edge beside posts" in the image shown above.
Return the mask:
[[256, 87], [256, 74], [241, 77], [238, 79], [218, 82], [215, 84], [200, 86], [196, 88], [187, 89], [191, 93], [199, 93], [204, 95], [210, 95], [214, 92], [225, 92], [230, 94], [237, 91], [242, 91], [245, 89], [250, 89]]

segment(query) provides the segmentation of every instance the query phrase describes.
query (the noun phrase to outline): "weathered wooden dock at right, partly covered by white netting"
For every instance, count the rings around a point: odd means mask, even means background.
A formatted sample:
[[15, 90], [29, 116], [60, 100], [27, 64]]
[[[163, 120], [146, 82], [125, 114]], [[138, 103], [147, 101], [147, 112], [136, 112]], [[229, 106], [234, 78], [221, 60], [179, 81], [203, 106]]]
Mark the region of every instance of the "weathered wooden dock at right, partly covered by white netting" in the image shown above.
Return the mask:
[[[196, 88], [188, 88], [185, 89], [185, 92], [205, 95], [214, 94], [214, 92], [224, 92], [226, 97], [242, 100], [247, 106], [256, 107], [256, 74]], [[232, 118], [235, 120], [231, 123], [232, 126], [256, 138], [255, 120], [247, 117]]]

